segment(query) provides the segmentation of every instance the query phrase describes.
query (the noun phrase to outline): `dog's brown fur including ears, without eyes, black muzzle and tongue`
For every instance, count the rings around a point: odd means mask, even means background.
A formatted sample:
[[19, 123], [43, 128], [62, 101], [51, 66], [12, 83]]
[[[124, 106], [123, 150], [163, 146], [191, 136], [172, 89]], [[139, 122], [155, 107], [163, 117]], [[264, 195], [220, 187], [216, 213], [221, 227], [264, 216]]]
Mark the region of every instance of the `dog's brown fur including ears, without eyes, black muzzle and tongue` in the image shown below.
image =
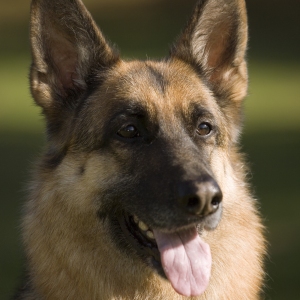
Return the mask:
[[[31, 87], [48, 145], [26, 204], [29, 279], [16, 299], [183, 299], [138, 256], [123, 253], [109, 225], [126, 197], [122, 186], [134, 190], [145, 177], [168, 187], [161, 178], [173, 178], [170, 157], [186, 176], [205, 161], [223, 193], [218, 227], [202, 233], [212, 276], [195, 299], [259, 299], [263, 227], [237, 145], [247, 90], [244, 1], [200, 0], [170, 56], [158, 62], [121, 60], [80, 0], [33, 0], [31, 16]], [[140, 146], [145, 154], [111, 137], [122, 105], [147, 116], [153, 134]], [[208, 109], [205, 120], [217, 128], [204, 142], [195, 138], [195, 106]], [[171, 219], [168, 209], [164, 217]]]

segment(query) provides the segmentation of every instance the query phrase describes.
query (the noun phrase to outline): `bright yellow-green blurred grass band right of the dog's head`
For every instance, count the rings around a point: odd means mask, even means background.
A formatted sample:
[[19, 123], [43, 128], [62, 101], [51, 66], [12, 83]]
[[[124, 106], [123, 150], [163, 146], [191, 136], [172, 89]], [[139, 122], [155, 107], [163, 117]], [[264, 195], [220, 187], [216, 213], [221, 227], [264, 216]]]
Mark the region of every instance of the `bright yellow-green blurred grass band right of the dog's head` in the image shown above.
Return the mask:
[[300, 126], [300, 63], [249, 62], [249, 130], [295, 129]]

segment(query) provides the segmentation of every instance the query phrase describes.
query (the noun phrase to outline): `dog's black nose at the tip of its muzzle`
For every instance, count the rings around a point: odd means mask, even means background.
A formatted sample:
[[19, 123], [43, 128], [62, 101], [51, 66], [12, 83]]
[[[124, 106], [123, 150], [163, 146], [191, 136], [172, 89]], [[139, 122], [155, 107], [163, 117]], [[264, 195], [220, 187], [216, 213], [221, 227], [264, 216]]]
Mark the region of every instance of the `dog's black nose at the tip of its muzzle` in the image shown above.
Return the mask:
[[218, 210], [222, 192], [211, 176], [186, 181], [179, 186], [178, 204], [188, 214], [207, 216]]

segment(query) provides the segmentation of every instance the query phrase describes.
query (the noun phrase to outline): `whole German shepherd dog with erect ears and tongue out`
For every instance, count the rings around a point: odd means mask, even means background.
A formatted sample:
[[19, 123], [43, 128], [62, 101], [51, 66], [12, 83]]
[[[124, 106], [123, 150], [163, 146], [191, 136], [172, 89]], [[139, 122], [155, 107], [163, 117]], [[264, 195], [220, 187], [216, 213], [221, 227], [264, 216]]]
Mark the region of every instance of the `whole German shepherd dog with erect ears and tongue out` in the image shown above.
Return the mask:
[[160, 61], [121, 60], [81, 0], [33, 0], [31, 43], [47, 146], [15, 299], [259, 299], [244, 0], [198, 1]]

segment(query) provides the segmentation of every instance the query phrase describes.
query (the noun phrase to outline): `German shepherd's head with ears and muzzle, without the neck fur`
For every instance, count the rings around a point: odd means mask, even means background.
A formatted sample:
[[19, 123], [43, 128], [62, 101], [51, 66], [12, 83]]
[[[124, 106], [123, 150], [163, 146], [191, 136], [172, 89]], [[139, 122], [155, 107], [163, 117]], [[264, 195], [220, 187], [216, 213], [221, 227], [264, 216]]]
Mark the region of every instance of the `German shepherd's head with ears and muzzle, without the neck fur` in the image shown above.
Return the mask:
[[[220, 173], [247, 88], [243, 2], [200, 1], [159, 62], [122, 61], [79, 0], [33, 1], [31, 32], [32, 93], [49, 140], [43, 170], [67, 177], [60, 189], [80, 191], [122, 252], [165, 273], [178, 292], [199, 293], [175, 283], [162, 253], [175, 233], [202, 243], [195, 230], [215, 229], [229, 197]], [[200, 273], [207, 281], [209, 271]]]

